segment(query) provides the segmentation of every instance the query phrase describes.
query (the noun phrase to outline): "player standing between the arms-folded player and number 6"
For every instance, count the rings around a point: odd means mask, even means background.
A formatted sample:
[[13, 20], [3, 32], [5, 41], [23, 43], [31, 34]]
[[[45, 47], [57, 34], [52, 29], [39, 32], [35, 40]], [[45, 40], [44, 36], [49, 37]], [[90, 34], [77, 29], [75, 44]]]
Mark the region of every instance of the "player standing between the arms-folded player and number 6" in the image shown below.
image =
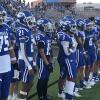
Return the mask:
[[84, 21], [82, 19], [76, 20], [78, 32], [75, 34], [76, 40], [78, 42], [77, 46], [77, 57], [78, 57], [78, 75], [77, 75], [77, 80], [80, 81], [79, 87], [83, 88], [83, 80], [84, 80], [84, 66], [85, 66], [85, 61], [84, 61], [84, 55], [85, 55], [85, 50], [84, 50], [84, 42], [85, 42], [85, 33], [84, 33]]

